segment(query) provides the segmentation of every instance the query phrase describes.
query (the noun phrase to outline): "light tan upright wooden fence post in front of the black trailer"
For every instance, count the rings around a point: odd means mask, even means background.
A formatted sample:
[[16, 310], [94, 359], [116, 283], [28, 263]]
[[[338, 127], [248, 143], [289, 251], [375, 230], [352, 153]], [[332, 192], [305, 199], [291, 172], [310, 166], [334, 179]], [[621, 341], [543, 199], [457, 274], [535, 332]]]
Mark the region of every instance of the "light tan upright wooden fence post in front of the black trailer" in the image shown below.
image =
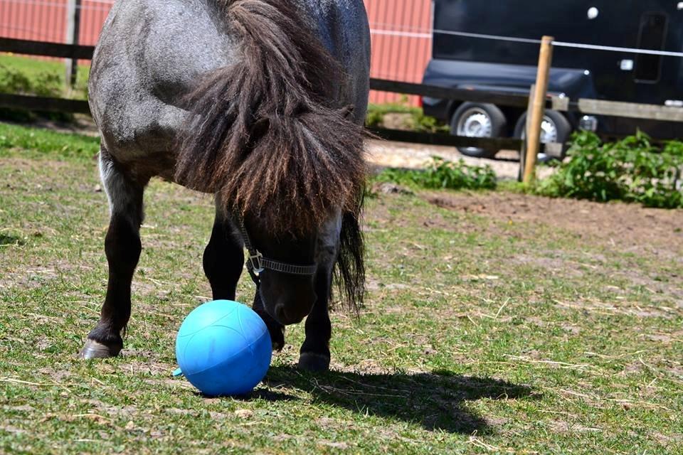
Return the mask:
[[[536, 73], [536, 90], [531, 92], [531, 112], [527, 114], [528, 129], [526, 131], [526, 159], [524, 160], [524, 183], [531, 183], [536, 177], [536, 156], [541, 145], [541, 124], [545, 114], [546, 95], [548, 94], [548, 79], [553, 60], [552, 36], [544, 36], [541, 40], [539, 54], [539, 70]], [[529, 121], [529, 114], [531, 120]]]

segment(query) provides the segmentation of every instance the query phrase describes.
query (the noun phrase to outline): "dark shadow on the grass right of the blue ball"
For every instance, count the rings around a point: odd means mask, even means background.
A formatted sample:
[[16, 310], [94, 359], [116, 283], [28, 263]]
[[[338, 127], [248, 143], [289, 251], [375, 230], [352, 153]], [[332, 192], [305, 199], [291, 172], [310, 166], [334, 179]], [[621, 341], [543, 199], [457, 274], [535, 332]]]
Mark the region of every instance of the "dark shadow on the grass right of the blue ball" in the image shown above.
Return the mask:
[[401, 419], [425, 429], [450, 433], [486, 433], [489, 424], [465, 402], [538, 397], [528, 385], [476, 378], [439, 370], [432, 373], [304, 373], [293, 366], [270, 368], [271, 387], [305, 390], [314, 400], [361, 414]]

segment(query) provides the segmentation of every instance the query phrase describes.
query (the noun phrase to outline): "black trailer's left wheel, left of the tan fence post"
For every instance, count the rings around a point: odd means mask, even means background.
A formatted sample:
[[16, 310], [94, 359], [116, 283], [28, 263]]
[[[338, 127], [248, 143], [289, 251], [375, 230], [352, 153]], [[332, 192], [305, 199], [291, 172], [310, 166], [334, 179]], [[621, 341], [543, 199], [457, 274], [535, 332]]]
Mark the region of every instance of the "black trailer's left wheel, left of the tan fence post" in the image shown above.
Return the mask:
[[[450, 134], [466, 137], [502, 137], [507, 119], [496, 106], [487, 103], [465, 102], [450, 119]], [[493, 158], [498, 149], [479, 147], [458, 147], [461, 154], [475, 158]]]

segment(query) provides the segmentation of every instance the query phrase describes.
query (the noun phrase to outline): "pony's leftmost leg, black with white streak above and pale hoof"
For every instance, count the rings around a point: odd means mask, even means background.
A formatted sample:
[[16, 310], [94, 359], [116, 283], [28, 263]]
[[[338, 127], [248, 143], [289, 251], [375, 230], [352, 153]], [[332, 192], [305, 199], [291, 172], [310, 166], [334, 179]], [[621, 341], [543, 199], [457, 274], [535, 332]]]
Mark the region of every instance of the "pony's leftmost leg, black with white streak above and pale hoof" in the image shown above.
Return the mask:
[[109, 282], [100, 322], [88, 333], [80, 350], [82, 358], [115, 357], [123, 348], [121, 332], [130, 318], [130, 284], [142, 251], [139, 230], [147, 182], [130, 178], [104, 148], [100, 151], [100, 176], [111, 210], [105, 238]]

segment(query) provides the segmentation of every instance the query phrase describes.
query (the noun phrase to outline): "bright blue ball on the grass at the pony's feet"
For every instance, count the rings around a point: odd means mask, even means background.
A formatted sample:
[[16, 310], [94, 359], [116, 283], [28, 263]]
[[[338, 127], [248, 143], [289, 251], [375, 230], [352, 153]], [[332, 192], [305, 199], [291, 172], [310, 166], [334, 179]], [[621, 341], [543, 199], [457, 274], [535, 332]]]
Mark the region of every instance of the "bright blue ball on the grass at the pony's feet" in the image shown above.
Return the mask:
[[185, 377], [205, 395], [245, 395], [270, 366], [272, 343], [263, 320], [248, 306], [214, 300], [185, 318], [176, 358]]

